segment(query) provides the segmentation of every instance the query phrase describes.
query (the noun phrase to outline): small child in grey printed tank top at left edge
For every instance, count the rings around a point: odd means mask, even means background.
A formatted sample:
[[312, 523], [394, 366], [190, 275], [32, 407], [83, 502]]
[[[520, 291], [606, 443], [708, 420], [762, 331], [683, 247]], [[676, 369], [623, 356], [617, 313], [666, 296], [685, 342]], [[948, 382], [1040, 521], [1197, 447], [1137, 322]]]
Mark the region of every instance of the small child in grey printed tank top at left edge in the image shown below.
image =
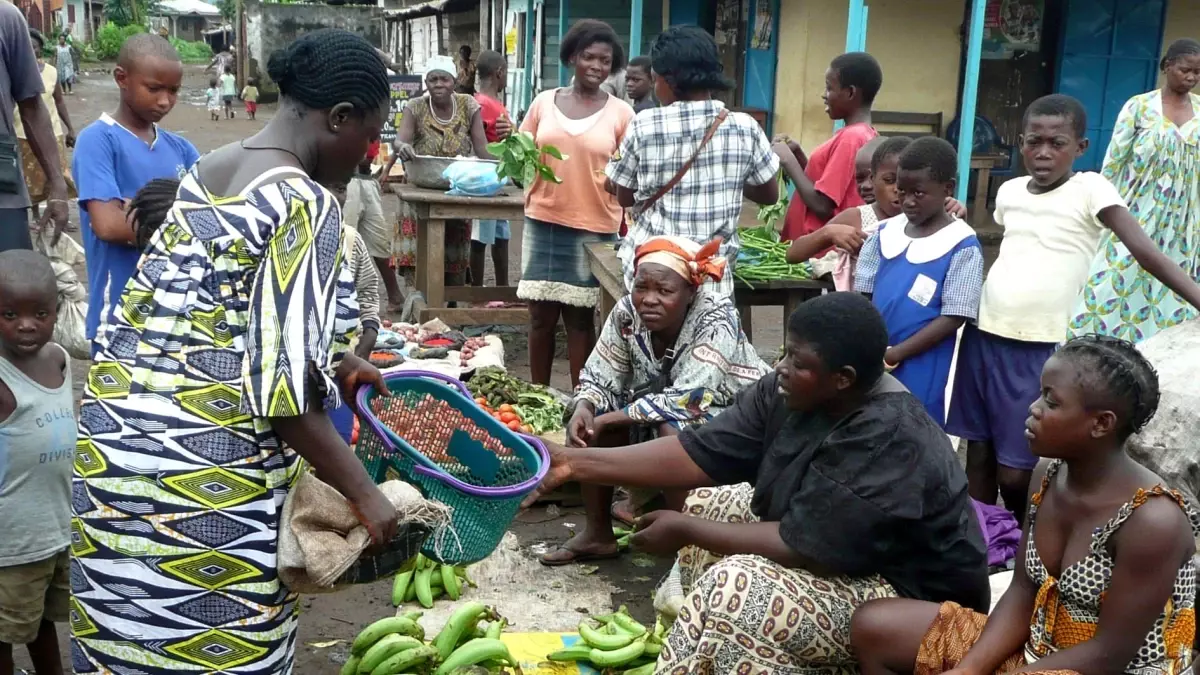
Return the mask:
[[44, 256], [0, 252], [0, 673], [13, 645], [36, 673], [62, 673], [76, 420], [71, 359], [49, 342], [58, 299]]

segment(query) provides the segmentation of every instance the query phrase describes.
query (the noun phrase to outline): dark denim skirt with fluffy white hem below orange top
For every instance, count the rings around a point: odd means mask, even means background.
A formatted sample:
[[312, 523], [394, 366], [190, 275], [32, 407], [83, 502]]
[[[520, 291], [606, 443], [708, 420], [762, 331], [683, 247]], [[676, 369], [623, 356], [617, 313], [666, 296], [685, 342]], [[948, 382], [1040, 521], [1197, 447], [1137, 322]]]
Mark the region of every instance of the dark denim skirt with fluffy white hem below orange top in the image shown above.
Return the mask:
[[562, 303], [576, 307], [596, 306], [600, 301], [600, 282], [592, 276], [583, 246], [616, 239], [616, 234], [600, 234], [527, 217], [517, 297], [522, 300]]

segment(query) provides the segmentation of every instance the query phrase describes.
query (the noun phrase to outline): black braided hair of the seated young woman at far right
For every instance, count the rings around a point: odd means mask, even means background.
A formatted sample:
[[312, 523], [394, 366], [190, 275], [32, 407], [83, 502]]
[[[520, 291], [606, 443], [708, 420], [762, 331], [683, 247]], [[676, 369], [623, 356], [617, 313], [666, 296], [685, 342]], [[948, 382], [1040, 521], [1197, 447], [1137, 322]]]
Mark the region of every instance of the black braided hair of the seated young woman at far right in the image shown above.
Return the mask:
[[1063, 345], [1055, 358], [1079, 369], [1088, 407], [1117, 414], [1121, 440], [1141, 431], [1158, 411], [1158, 374], [1133, 342], [1084, 335]]

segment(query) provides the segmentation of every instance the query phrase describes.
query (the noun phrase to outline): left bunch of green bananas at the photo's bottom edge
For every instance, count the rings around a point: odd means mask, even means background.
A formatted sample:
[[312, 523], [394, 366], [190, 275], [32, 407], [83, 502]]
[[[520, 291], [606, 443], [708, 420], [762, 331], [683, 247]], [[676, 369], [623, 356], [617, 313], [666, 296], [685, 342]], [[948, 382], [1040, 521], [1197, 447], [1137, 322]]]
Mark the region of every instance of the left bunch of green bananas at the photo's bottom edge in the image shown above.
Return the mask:
[[463, 603], [428, 644], [420, 619], [420, 611], [409, 611], [364, 628], [350, 645], [350, 658], [341, 675], [458, 675], [475, 667], [490, 673], [508, 668], [520, 671], [509, 647], [500, 641], [508, 622], [496, 609]]

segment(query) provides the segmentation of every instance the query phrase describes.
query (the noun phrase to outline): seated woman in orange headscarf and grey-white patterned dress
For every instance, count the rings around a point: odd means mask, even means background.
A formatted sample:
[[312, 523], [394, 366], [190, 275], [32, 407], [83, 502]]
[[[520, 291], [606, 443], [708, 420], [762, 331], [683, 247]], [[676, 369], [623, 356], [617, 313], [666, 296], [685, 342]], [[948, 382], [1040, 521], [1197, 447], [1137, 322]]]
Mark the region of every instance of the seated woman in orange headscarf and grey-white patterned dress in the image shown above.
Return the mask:
[[[575, 394], [568, 442], [578, 448], [620, 447], [674, 436], [703, 424], [733, 404], [770, 368], [742, 333], [737, 309], [725, 295], [701, 289], [720, 280], [725, 259], [713, 257], [720, 240], [655, 237], [637, 249], [634, 292], [617, 303], [588, 357]], [[612, 515], [629, 521], [658, 491], [634, 491], [620, 510], [608, 485], [583, 485], [587, 522], [542, 565], [616, 557]], [[682, 510], [684, 490], [665, 495]], [[632, 510], [628, 513], [625, 509]]]

